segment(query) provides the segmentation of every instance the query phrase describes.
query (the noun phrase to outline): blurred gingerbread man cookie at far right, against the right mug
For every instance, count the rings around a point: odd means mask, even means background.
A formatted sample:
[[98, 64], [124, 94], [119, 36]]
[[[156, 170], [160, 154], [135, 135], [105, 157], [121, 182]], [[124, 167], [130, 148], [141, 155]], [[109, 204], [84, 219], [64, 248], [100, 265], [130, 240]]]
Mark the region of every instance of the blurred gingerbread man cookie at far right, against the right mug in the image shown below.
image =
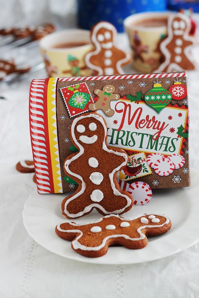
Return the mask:
[[196, 44], [194, 37], [189, 35], [191, 21], [183, 13], [172, 14], [168, 19], [168, 37], [160, 44], [165, 55], [164, 62], [156, 72], [173, 72], [195, 69], [190, 50]]

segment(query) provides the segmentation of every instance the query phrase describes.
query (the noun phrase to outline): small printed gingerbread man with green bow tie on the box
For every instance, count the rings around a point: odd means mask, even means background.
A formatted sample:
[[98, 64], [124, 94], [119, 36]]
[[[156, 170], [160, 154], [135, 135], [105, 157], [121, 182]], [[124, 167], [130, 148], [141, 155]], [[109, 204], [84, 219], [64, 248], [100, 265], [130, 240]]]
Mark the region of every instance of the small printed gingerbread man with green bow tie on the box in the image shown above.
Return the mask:
[[116, 94], [115, 86], [106, 85], [102, 90], [95, 89], [94, 93], [98, 95], [98, 100], [95, 103], [90, 103], [88, 108], [91, 111], [102, 110], [105, 115], [112, 116], [114, 114], [114, 110], [110, 107], [111, 100], [118, 100], [120, 98], [120, 94]]

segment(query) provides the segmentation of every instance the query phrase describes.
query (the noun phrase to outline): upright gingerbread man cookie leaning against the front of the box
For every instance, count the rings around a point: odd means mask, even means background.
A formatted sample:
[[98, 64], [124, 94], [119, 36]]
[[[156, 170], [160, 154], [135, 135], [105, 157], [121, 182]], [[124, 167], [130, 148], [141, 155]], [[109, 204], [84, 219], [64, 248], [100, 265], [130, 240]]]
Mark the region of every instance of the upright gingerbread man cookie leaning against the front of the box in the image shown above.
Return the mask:
[[87, 113], [76, 117], [70, 137], [78, 148], [67, 157], [64, 170], [78, 183], [78, 189], [62, 201], [62, 214], [77, 218], [94, 208], [102, 215], [121, 214], [131, 209], [132, 196], [122, 191], [117, 172], [128, 162], [124, 150], [107, 147], [107, 126], [103, 117]]

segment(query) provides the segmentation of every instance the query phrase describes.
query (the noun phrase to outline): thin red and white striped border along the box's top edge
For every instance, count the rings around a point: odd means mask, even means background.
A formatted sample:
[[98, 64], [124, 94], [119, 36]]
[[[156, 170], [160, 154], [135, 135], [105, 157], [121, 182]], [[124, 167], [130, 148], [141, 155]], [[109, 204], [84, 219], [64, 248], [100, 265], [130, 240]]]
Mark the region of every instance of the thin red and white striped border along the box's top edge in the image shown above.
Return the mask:
[[93, 81], [93, 80], [135, 80], [150, 78], [169, 78], [169, 77], [185, 77], [186, 72], [175, 73], [154, 73], [154, 74], [135, 74], [135, 75], [108, 75], [108, 76], [90, 76], [90, 77], [61, 77], [59, 82], [66, 81]]

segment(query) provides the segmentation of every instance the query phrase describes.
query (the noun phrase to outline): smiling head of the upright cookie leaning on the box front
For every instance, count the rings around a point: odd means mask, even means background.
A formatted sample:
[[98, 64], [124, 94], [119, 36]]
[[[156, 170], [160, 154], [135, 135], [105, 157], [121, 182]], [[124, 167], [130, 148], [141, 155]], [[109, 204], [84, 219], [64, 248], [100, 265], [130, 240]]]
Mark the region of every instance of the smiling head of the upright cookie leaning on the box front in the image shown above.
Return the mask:
[[92, 144], [102, 146], [106, 134], [105, 129], [106, 125], [102, 117], [96, 117], [96, 115], [94, 117], [94, 114], [90, 113], [85, 117], [77, 117], [72, 122], [72, 139], [83, 147]]

